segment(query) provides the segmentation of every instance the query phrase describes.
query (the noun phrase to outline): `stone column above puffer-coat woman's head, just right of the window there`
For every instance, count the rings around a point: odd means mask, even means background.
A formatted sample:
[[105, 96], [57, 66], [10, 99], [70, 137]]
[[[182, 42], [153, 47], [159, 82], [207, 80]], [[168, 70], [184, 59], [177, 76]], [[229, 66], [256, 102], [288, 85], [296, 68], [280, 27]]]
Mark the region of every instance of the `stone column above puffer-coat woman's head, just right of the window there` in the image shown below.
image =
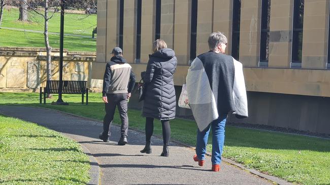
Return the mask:
[[160, 38], [168, 48], [173, 49], [174, 37], [174, 0], [161, 1]]

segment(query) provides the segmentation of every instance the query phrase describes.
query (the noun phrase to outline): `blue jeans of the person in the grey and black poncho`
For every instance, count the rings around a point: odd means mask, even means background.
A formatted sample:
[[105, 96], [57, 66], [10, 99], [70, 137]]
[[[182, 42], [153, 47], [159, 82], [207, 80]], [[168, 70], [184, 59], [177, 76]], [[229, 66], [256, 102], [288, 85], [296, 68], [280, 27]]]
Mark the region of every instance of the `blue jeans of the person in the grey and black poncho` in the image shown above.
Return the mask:
[[206, 127], [203, 131], [197, 129], [197, 145], [196, 154], [197, 158], [200, 160], [205, 160], [206, 145], [208, 142], [208, 137], [210, 133], [210, 128], [212, 126], [212, 164], [221, 163], [221, 154], [224, 143], [224, 126], [226, 124], [226, 117], [221, 116], [217, 120], [211, 122], [211, 124]]

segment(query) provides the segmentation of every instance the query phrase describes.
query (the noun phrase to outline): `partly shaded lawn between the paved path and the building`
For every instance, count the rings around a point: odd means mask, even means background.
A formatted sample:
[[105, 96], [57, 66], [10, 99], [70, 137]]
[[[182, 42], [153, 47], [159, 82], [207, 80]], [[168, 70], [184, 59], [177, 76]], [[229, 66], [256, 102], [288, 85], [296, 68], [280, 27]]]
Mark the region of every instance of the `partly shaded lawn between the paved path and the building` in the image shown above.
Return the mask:
[[[81, 105], [81, 96], [63, 95], [69, 106], [40, 105], [36, 93], [1, 93], [0, 105], [27, 105], [57, 109], [76, 115], [103, 120], [104, 104], [101, 94], [89, 94], [89, 105]], [[129, 125], [144, 129], [145, 120], [141, 111], [129, 110]], [[120, 121], [118, 114], [114, 122]], [[196, 124], [193, 121], [175, 119], [171, 121], [171, 137], [188, 145], [195, 145]], [[161, 124], [154, 125], [154, 133], [161, 135]], [[209, 141], [211, 144], [211, 141]], [[211, 150], [211, 145], [208, 146]], [[303, 184], [329, 184], [330, 140], [226, 126], [223, 156], [249, 168]], [[187, 159], [188, 160], [188, 159]]]

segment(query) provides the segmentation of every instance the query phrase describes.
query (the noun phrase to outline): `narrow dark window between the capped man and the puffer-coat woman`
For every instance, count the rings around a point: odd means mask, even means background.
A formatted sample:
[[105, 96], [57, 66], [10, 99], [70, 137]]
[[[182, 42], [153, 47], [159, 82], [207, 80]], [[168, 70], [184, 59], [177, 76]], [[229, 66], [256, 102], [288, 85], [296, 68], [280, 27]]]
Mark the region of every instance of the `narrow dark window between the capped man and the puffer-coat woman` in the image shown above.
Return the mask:
[[141, 58], [141, 11], [142, 11], [142, 0], [137, 0], [137, 46], [136, 46], [136, 57], [135, 62], [140, 63]]

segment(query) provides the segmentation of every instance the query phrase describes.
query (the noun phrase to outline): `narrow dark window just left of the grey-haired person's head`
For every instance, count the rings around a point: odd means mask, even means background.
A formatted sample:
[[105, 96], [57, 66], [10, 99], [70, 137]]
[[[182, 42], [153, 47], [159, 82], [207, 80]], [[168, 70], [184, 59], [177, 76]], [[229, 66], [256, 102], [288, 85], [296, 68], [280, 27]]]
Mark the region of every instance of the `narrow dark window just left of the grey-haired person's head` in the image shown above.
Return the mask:
[[196, 58], [196, 39], [197, 39], [197, 0], [191, 0], [190, 17], [190, 61]]

